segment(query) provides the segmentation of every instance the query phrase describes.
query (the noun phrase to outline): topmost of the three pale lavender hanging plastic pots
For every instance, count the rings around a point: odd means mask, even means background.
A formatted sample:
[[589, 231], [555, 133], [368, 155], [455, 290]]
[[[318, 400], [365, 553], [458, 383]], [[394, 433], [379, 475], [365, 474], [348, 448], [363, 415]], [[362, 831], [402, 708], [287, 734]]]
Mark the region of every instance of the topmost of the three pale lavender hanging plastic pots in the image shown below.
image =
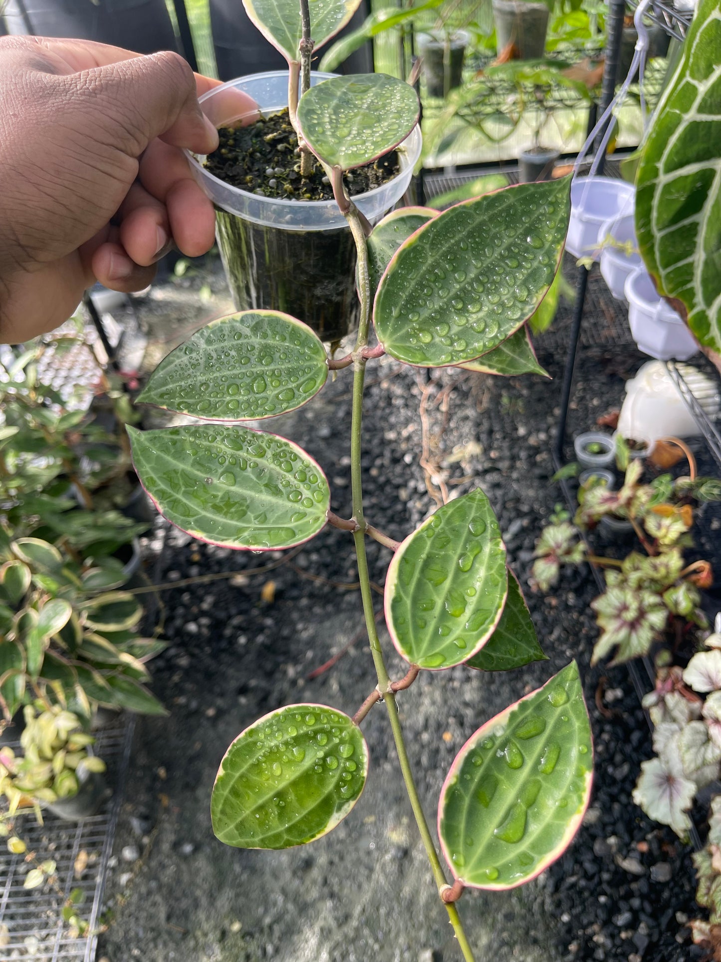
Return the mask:
[[634, 213], [635, 190], [613, 177], [577, 177], [571, 185], [571, 219], [566, 250], [598, 259], [598, 234], [610, 219]]

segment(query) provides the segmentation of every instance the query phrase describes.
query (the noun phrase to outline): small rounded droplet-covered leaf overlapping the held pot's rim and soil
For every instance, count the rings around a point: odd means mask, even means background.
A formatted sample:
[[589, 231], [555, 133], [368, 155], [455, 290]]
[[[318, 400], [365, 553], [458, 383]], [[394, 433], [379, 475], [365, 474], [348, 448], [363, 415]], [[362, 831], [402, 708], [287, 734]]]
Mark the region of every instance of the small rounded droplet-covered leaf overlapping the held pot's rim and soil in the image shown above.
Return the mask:
[[304, 93], [298, 123], [316, 157], [351, 170], [406, 139], [418, 112], [418, 96], [409, 84], [385, 73], [356, 73], [325, 80]]

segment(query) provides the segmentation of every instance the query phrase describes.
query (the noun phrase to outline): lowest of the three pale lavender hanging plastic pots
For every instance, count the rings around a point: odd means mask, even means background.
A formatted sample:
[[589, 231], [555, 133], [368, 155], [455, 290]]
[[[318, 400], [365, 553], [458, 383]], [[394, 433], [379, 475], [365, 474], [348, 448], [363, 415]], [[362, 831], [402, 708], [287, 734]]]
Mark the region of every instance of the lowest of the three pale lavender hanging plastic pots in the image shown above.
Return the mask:
[[699, 349], [674, 309], [659, 297], [648, 271], [634, 270], [626, 281], [629, 325], [639, 351], [659, 361], [687, 361]]

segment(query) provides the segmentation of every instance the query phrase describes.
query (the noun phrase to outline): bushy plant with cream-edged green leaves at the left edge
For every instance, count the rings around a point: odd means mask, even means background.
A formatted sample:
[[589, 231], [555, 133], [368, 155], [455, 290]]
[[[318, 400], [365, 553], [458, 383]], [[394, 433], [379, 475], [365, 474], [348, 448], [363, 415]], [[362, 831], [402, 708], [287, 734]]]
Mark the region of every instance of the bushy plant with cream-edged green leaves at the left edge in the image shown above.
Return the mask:
[[142, 606], [117, 559], [77, 556], [0, 530], [0, 708], [10, 722], [41, 695], [90, 721], [98, 705], [164, 713], [145, 663], [164, 643], [138, 635]]

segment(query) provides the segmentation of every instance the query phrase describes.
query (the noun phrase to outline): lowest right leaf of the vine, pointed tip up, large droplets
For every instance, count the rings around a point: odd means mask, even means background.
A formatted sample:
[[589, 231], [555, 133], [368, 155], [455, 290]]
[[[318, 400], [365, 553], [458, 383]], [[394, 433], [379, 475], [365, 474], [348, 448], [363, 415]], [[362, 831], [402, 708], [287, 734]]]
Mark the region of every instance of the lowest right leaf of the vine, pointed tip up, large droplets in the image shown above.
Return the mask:
[[485, 722], [460, 749], [438, 802], [438, 838], [456, 878], [511, 889], [535, 878], [579, 829], [593, 777], [576, 662]]

